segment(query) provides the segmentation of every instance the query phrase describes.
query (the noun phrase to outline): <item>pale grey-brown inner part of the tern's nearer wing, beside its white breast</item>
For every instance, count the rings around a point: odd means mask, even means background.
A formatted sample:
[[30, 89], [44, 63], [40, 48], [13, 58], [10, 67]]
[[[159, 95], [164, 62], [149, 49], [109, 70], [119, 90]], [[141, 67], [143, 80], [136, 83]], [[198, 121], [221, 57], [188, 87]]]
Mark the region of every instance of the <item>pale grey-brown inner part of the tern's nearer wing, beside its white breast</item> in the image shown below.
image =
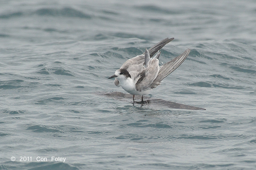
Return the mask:
[[158, 59], [151, 58], [148, 61], [148, 67], [145, 68], [142, 72], [140, 72], [138, 76], [135, 78], [135, 81], [137, 81], [137, 83], [135, 84], [135, 89], [140, 92], [142, 90], [151, 89], [150, 85], [156, 79], [158, 71]]

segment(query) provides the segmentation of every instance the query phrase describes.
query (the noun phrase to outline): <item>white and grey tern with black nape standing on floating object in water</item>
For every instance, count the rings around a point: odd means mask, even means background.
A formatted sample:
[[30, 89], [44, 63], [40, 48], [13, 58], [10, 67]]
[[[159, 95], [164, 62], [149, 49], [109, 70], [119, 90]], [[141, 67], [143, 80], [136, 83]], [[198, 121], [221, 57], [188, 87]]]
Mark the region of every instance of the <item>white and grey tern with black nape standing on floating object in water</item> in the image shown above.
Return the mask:
[[165, 38], [153, 47], [146, 49], [143, 54], [128, 59], [108, 79], [115, 78], [114, 84], [117, 87], [121, 86], [126, 92], [132, 94], [133, 101], [135, 95], [142, 95], [141, 102], [143, 102], [143, 95], [149, 94], [152, 89], [160, 85], [165, 77], [183, 63], [190, 52], [188, 48], [181, 55], [159, 67], [158, 59], [161, 54], [159, 50], [173, 39]]

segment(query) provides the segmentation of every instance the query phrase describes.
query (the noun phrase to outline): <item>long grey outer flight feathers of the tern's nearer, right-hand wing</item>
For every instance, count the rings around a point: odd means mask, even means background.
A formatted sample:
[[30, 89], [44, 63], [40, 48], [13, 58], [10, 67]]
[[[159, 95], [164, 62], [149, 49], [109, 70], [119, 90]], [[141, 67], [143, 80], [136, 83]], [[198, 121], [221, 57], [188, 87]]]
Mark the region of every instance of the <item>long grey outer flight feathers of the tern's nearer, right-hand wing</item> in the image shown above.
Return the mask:
[[151, 88], [155, 88], [156, 86], [160, 85], [161, 81], [172, 73], [175, 69], [177, 69], [181, 63], [187, 58], [188, 54], [190, 52], [190, 49], [187, 49], [184, 53], [179, 55], [178, 57], [172, 59], [171, 61], [163, 64], [159, 67], [159, 72], [156, 77], [156, 79], [153, 81], [153, 83], [150, 85]]

